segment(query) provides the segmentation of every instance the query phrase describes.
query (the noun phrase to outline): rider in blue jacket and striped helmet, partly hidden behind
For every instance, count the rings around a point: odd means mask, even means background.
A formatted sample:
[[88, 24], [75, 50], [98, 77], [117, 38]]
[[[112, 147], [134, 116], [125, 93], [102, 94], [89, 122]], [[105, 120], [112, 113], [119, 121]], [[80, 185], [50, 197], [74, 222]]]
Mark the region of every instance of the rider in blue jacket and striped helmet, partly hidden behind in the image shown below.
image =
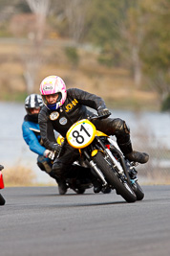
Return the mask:
[[30, 150], [38, 154], [37, 165], [40, 170], [45, 171], [56, 180], [56, 177], [52, 173], [54, 153], [44, 147], [40, 136], [38, 114], [42, 106], [43, 101], [40, 95], [31, 94], [26, 98], [25, 109], [27, 114], [22, 124], [23, 138], [29, 145]]

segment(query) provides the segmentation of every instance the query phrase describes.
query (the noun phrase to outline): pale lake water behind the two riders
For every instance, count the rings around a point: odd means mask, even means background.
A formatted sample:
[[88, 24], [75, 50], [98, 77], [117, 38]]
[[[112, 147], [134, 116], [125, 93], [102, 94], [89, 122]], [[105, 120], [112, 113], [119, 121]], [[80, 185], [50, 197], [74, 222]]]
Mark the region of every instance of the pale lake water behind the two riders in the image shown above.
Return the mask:
[[[36, 154], [29, 150], [23, 140], [21, 126], [26, 114], [24, 105], [0, 102], [0, 110], [0, 164], [8, 168], [18, 163], [32, 168], [38, 182], [52, 180], [36, 166]], [[135, 144], [141, 144], [142, 135], [146, 134], [147, 143], [153, 147], [160, 144], [170, 150], [170, 114], [112, 110], [112, 117], [126, 121]]]

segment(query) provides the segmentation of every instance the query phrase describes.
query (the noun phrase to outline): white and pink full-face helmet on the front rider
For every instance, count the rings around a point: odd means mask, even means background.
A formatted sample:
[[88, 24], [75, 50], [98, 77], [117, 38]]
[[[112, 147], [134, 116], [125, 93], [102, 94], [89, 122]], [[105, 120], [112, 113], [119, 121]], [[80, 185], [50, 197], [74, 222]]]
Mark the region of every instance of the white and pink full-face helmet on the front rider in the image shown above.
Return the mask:
[[[64, 104], [67, 92], [65, 82], [57, 76], [49, 76], [41, 81], [40, 84], [40, 93], [44, 102], [44, 105], [47, 106], [50, 110], [55, 110]], [[46, 100], [46, 95], [51, 95], [58, 93], [58, 99], [55, 104], [50, 105]]]

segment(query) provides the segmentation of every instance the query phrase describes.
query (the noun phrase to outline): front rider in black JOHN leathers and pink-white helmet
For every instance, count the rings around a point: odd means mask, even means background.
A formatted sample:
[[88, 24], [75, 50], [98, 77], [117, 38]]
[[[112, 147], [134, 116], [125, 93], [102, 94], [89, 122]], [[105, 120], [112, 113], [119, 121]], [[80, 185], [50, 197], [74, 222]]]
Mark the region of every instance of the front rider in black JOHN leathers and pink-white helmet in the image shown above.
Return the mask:
[[[100, 97], [77, 88], [66, 90], [65, 82], [58, 76], [49, 76], [41, 81], [40, 93], [44, 106], [39, 113], [38, 123], [44, 145], [50, 151], [58, 152], [61, 149], [61, 146], [54, 142], [53, 129], [65, 137], [67, 130], [75, 122], [95, 115], [86, 106], [96, 109], [99, 116], [110, 114]], [[133, 151], [130, 129], [125, 121], [120, 118], [105, 118], [92, 122], [97, 130], [117, 137], [118, 147], [130, 161], [138, 163], [148, 161], [147, 153]], [[66, 144], [65, 151], [54, 159], [52, 172], [58, 178], [62, 194], [67, 191], [65, 175], [74, 169], [73, 163], [78, 156], [79, 151]]]

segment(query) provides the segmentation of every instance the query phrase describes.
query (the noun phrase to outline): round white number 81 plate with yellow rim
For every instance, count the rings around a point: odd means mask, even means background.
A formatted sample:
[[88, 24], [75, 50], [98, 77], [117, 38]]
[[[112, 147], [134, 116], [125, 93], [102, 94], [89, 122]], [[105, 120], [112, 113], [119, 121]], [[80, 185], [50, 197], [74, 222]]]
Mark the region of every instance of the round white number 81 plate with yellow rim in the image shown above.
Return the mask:
[[76, 122], [67, 132], [68, 143], [75, 149], [87, 147], [96, 136], [96, 127], [89, 120]]

